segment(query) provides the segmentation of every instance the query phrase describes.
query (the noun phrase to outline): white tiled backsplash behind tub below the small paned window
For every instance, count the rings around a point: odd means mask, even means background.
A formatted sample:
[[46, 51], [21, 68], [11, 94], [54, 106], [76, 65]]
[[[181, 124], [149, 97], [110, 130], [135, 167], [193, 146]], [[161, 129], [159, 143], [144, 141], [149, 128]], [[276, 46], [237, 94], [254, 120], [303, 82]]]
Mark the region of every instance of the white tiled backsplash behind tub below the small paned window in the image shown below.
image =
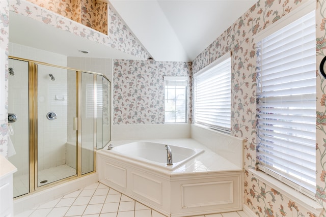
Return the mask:
[[112, 125], [112, 141], [191, 138], [191, 124]]

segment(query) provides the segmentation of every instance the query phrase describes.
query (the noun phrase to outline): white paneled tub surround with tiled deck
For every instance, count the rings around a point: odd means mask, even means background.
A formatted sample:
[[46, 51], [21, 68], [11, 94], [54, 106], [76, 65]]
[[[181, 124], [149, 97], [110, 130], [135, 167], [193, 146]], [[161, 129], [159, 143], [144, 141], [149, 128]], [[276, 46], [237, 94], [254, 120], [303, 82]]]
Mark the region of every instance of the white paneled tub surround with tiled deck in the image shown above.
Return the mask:
[[[114, 150], [132, 142], [135, 141], [115, 141], [112, 150], [97, 151], [97, 171], [101, 183], [173, 217], [242, 210], [241, 167], [193, 139], [146, 140], [204, 149], [173, 169], [156, 166], [148, 160], [141, 161], [139, 157], [132, 159], [130, 154], [124, 157]], [[166, 154], [167, 151], [162, 150], [162, 155]]]

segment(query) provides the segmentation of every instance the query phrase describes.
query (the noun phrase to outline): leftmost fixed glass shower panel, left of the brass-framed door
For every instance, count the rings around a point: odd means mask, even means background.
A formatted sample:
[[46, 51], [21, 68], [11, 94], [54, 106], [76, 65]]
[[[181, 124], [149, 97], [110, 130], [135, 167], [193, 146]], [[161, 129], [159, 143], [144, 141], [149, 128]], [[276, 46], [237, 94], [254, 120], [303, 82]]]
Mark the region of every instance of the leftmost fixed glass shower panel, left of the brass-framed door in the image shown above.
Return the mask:
[[29, 64], [9, 59], [8, 160], [17, 168], [13, 175], [14, 197], [29, 193]]

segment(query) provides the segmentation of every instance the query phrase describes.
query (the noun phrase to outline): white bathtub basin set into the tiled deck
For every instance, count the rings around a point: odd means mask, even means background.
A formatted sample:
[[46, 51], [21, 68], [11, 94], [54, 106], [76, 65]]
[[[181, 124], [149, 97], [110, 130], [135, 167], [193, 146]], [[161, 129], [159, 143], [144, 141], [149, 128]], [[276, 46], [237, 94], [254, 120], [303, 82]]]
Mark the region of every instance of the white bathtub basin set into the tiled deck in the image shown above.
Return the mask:
[[147, 141], [131, 142], [114, 147], [109, 151], [124, 158], [162, 167], [167, 170], [174, 170], [204, 152], [202, 148], [186, 148], [169, 145], [172, 152], [173, 165], [167, 165], [167, 150], [165, 145], [163, 143]]

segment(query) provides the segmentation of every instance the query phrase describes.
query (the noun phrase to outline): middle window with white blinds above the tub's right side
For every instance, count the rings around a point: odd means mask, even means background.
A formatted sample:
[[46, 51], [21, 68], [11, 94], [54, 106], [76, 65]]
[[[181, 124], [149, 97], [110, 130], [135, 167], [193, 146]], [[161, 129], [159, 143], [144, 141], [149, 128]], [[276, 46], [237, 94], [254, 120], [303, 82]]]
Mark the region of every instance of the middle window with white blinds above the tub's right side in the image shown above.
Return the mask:
[[227, 54], [195, 74], [195, 124], [230, 133], [231, 57]]

